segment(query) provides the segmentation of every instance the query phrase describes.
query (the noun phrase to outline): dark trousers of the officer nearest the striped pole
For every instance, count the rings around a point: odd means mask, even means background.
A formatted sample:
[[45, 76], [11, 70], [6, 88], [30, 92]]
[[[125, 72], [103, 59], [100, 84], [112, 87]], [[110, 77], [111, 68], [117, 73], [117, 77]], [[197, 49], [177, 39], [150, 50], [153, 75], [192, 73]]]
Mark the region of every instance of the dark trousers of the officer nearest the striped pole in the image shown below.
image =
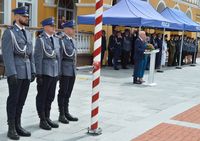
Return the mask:
[[[68, 107], [69, 99], [72, 94], [72, 90], [75, 83], [75, 76], [61, 76], [60, 78], [60, 85], [58, 91], [58, 106], [59, 108]], [[68, 109], [66, 109], [68, 110]]]

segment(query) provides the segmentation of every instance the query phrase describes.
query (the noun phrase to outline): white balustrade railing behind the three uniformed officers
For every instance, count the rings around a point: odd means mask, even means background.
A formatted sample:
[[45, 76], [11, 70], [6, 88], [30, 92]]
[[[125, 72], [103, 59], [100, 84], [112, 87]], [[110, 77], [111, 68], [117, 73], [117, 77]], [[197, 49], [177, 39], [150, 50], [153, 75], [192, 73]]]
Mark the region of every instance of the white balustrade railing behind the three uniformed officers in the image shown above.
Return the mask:
[[[1, 39], [4, 31], [7, 29], [8, 25], [0, 25], [0, 54], [2, 54], [1, 50]], [[36, 40], [36, 33], [40, 28], [28, 28], [28, 30], [32, 34], [32, 42], [33, 46], [35, 46]], [[92, 33], [83, 33], [79, 32], [75, 35], [75, 46], [78, 49], [78, 54], [89, 54], [90, 53], [90, 44], [91, 44], [91, 37], [93, 36]]]

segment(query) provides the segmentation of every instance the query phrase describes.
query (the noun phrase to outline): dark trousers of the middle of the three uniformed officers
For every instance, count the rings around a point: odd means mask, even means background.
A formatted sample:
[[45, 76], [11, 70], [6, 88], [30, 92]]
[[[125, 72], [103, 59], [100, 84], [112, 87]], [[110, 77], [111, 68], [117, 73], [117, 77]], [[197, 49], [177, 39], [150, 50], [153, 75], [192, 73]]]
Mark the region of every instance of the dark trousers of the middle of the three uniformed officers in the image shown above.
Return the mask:
[[57, 77], [43, 75], [42, 83], [39, 83], [37, 78], [36, 108], [39, 116], [41, 113], [50, 112], [51, 104], [55, 98], [56, 84]]

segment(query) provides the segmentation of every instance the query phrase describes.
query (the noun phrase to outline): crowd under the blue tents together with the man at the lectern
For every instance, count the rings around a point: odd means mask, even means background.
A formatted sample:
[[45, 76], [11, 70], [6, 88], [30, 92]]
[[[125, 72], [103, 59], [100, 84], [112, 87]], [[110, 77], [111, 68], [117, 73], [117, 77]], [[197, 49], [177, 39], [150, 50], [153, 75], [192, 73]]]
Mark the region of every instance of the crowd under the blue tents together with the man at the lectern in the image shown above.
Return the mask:
[[[138, 39], [141, 39], [142, 43], [145, 44], [141, 45]], [[108, 47], [106, 46], [106, 32], [103, 30], [101, 64], [103, 64], [104, 54], [108, 50], [108, 59], [106, 60], [108, 66], [113, 66], [114, 70], [119, 70], [120, 65], [122, 69], [128, 69], [128, 64], [134, 64], [135, 72], [133, 76], [139, 75], [137, 79], [134, 79], [134, 83], [142, 84], [144, 82], [142, 79], [144, 70], [148, 70], [150, 65], [150, 56], [144, 55], [144, 52], [148, 51], [148, 44], [159, 50], [155, 60], [155, 69], [157, 70], [164, 66], [178, 66], [196, 62], [197, 39], [184, 35], [182, 42], [181, 35], [172, 34], [168, 37], [167, 34], [163, 36], [160, 33], [149, 34], [139, 31], [131, 33], [131, 30], [125, 29], [124, 32], [113, 30], [109, 37]], [[183, 46], [182, 51], [181, 45]], [[139, 63], [141, 60], [143, 65]], [[138, 70], [138, 68], [140, 69]]]

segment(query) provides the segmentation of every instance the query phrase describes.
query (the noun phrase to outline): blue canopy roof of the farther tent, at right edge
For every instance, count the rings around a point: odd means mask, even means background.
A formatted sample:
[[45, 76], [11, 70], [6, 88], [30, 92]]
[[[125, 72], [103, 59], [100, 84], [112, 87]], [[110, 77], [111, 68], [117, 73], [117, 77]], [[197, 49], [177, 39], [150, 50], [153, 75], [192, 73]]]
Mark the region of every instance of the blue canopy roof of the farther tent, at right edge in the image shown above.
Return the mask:
[[180, 10], [167, 7], [161, 12], [161, 15], [172, 22], [183, 24], [183, 30], [185, 31], [200, 31], [200, 25], [192, 21], [184, 12]]

